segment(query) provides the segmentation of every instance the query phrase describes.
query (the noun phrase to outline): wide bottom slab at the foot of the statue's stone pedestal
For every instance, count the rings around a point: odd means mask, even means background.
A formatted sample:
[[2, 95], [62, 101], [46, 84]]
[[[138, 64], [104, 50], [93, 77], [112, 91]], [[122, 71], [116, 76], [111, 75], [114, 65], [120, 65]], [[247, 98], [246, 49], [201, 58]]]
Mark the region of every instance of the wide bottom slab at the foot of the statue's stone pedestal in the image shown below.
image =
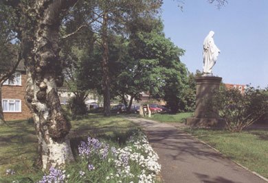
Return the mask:
[[225, 121], [223, 119], [216, 119], [216, 118], [197, 118], [197, 117], [190, 117], [186, 119], [186, 125], [190, 125], [193, 127], [225, 127]]

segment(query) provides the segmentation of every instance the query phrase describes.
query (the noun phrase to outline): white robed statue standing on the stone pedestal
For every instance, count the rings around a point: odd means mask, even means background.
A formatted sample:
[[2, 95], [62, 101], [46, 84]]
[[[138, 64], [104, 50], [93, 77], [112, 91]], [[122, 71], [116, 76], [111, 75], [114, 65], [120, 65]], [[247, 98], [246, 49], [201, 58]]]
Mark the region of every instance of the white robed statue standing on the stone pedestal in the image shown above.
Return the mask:
[[203, 42], [203, 74], [212, 75], [212, 67], [216, 63], [216, 60], [221, 51], [214, 44], [213, 40], [214, 32], [210, 31], [208, 36], [205, 37]]

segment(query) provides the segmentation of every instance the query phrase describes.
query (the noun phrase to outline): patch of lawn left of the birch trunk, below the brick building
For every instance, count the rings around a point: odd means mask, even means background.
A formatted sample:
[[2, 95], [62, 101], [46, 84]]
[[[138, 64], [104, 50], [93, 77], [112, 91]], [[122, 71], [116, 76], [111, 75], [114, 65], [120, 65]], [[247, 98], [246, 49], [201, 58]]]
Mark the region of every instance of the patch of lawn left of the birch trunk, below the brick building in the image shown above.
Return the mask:
[[27, 121], [8, 121], [0, 126], [0, 177], [6, 169], [16, 172], [35, 173], [37, 139], [34, 125]]

